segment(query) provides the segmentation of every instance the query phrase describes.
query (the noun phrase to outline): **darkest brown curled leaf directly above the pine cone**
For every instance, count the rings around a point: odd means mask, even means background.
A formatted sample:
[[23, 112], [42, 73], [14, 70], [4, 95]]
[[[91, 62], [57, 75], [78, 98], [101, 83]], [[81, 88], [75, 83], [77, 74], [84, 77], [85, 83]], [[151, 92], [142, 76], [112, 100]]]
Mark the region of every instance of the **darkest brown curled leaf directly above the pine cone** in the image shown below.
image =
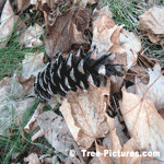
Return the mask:
[[48, 25], [48, 35], [45, 37], [46, 54], [55, 57], [58, 51], [68, 54], [74, 44], [79, 47], [83, 45], [82, 43], [89, 45], [81, 34], [89, 27], [89, 22], [86, 9], [71, 9], [57, 16], [52, 26]]

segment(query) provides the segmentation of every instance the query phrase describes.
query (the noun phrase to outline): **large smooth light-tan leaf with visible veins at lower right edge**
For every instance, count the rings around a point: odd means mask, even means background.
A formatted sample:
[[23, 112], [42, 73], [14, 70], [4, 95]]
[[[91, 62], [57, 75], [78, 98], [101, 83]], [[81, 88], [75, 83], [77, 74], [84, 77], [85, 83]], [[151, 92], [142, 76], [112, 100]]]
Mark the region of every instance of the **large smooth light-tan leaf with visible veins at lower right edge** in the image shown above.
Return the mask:
[[[122, 106], [122, 107], [121, 107]], [[164, 120], [149, 99], [128, 93], [122, 89], [120, 110], [131, 137], [137, 140], [138, 150], [159, 151], [159, 160], [164, 161]]]

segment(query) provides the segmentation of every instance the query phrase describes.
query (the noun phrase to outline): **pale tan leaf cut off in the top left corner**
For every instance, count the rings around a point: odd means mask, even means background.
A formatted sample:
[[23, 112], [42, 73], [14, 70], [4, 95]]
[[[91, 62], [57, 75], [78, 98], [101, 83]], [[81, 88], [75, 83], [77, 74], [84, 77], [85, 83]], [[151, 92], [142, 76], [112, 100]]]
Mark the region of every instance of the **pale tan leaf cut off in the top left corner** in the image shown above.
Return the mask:
[[19, 20], [19, 16], [14, 15], [10, 1], [7, 0], [2, 14], [1, 14], [0, 48], [7, 45], [17, 20]]

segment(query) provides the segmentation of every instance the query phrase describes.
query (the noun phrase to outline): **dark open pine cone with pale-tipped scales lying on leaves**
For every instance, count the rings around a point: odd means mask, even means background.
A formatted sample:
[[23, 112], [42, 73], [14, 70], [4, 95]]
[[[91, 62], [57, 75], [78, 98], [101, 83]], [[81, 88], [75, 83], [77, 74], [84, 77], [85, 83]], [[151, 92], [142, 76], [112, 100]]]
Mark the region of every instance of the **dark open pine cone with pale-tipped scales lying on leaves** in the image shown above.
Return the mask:
[[104, 77], [104, 84], [106, 78], [110, 75], [122, 77], [121, 72], [116, 70], [117, 65], [110, 65], [108, 57], [112, 54], [103, 55], [96, 59], [96, 47], [93, 51], [82, 54], [82, 47], [77, 55], [72, 51], [67, 58], [58, 54], [56, 59], [48, 62], [47, 68], [39, 72], [34, 83], [34, 92], [40, 101], [48, 101], [55, 94], [66, 96], [69, 90], [77, 91], [87, 90], [89, 83], [99, 86]]

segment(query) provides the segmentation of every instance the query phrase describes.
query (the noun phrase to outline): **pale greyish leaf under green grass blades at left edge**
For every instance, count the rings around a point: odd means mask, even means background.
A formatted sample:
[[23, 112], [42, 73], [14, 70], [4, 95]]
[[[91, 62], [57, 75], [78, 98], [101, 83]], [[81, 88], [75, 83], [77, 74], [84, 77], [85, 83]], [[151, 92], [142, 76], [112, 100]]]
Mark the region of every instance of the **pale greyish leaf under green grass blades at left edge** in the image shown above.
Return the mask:
[[[7, 78], [5, 78], [7, 79]], [[7, 82], [7, 84], [4, 83]], [[26, 99], [11, 99], [11, 81], [3, 80], [0, 85], [0, 134], [5, 136], [7, 129], [10, 128], [13, 122], [20, 125], [23, 115], [27, 108], [31, 108], [34, 105], [35, 98], [30, 97]], [[3, 85], [2, 85], [3, 84]]]

